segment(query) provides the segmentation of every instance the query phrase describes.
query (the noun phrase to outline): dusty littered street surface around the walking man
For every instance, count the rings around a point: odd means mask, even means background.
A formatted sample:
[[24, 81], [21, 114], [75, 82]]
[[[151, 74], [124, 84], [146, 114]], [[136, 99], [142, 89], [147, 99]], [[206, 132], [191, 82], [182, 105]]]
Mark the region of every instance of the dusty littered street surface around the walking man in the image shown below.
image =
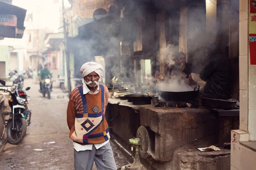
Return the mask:
[[[25, 80], [24, 89], [28, 86], [32, 123], [20, 144], [6, 144], [0, 153], [0, 170], [73, 170], [74, 149], [66, 121], [67, 94], [54, 88], [51, 99], [47, 99], [38, 92], [39, 85], [32, 84], [32, 79]], [[111, 146], [116, 164], [119, 167], [128, 164], [112, 141]]]

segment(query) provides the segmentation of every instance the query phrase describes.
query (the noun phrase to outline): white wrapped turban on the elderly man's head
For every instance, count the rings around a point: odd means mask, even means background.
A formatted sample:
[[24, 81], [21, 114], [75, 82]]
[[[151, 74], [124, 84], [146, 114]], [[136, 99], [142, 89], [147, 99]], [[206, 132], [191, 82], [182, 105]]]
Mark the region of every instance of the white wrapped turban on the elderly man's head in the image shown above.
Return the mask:
[[103, 71], [102, 65], [98, 64], [97, 62], [86, 62], [80, 68], [80, 72], [83, 75], [83, 77], [87, 76], [93, 71], [95, 71], [95, 73], [97, 73], [100, 77]]

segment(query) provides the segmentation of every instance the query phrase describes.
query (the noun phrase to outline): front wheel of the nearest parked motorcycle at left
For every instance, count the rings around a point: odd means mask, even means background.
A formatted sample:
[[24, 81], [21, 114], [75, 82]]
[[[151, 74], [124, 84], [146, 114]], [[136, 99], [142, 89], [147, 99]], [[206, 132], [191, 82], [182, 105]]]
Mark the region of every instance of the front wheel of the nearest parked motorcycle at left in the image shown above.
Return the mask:
[[24, 118], [15, 119], [15, 130], [12, 129], [12, 120], [8, 122], [7, 139], [11, 144], [19, 144], [26, 135], [26, 120]]

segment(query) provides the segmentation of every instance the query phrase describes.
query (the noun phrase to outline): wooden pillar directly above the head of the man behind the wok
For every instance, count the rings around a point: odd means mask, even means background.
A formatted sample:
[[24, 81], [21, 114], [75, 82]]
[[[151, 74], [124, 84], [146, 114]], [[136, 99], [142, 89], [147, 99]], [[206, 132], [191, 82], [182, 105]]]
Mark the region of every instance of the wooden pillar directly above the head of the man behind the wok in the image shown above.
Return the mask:
[[180, 38], [179, 51], [187, 54], [187, 7], [186, 0], [181, 0], [180, 4]]

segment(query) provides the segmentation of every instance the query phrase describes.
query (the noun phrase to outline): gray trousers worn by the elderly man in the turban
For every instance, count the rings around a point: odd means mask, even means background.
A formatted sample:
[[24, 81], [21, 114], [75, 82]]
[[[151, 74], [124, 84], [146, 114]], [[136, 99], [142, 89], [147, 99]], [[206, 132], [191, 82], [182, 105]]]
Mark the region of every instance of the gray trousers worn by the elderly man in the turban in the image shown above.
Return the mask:
[[77, 152], [74, 149], [75, 170], [92, 170], [93, 161], [97, 170], [116, 170], [116, 163], [110, 142], [99, 149], [93, 145], [93, 150]]

